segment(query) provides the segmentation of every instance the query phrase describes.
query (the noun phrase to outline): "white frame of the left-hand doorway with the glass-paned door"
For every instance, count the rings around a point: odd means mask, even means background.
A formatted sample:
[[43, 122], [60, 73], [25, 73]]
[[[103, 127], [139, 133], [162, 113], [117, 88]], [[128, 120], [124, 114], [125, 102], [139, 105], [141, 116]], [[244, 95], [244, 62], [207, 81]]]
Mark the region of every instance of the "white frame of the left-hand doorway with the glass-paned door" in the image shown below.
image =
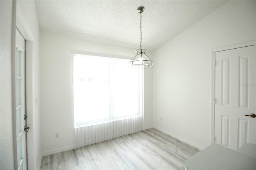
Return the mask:
[[[20, 8], [20, 6], [18, 5], [18, 1], [13, 1], [13, 6], [12, 6], [12, 47], [13, 50], [15, 49], [16, 43], [15, 43], [15, 38], [16, 38], [16, 28], [18, 28], [18, 30], [20, 31], [20, 33], [22, 34], [22, 36], [24, 37], [24, 39], [26, 40], [26, 63], [28, 58], [31, 60], [30, 61], [30, 66], [31, 68], [29, 68], [29, 71], [32, 71], [32, 77], [28, 76], [28, 74], [26, 73], [25, 77], [26, 77], [26, 87], [31, 87], [32, 89], [26, 90], [26, 110], [30, 109], [32, 110], [32, 113], [27, 114], [28, 117], [31, 117], [32, 119], [32, 115], [34, 113], [34, 81], [33, 81], [33, 76], [34, 76], [34, 60], [33, 60], [33, 41], [34, 41], [34, 36], [32, 34], [32, 32], [30, 31], [30, 28], [26, 22], [26, 19], [24, 17], [24, 15], [22, 14], [22, 10]], [[24, 68], [26, 71], [28, 71], [28, 65], [26, 65], [26, 68]], [[28, 77], [30, 77], [30, 81], [28, 81]], [[32, 81], [31, 81], [32, 80]], [[15, 105], [15, 50], [14, 52], [12, 52], [12, 126], [13, 126], [13, 138], [14, 138], [14, 168], [18, 169], [17, 165], [18, 165], [18, 160], [17, 160], [17, 143], [16, 143], [16, 105]], [[32, 109], [31, 109], [32, 108]], [[33, 124], [33, 120], [31, 122]], [[30, 123], [30, 124], [31, 124]], [[32, 127], [32, 124], [30, 125]], [[33, 143], [33, 134], [30, 134], [31, 138], [27, 138], [29, 139], [28, 142]], [[34, 146], [31, 146], [32, 150], [34, 148]], [[33, 164], [34, 164], [34, 158], [32, 154], [27, 153], [27, 159], [33, 159]], [[26, 166], [27, 168], [29, 168], [29, 164], [28, 163]], [[34, 167], [34, 166], [33, 166]]]

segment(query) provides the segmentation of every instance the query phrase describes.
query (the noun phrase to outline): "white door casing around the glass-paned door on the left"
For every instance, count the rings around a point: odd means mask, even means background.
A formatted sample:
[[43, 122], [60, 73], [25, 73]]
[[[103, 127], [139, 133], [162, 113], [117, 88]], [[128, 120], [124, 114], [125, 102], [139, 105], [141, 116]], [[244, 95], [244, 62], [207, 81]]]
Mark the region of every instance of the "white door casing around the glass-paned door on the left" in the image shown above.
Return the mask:
[[[26, 22], [26, 19], [24, 17], [24, 15], [22, 14], [22, 10], [18, 4], [18, 1], [14, 1], [13, 2], [13, 8], [12, 8], [12, 74], [15, 73], [15, 67], [13, 67], [13, 65], [15, 65], [15, 38], [16, 38], [16, 28], [18, 28], [18, 30], [20, 30], [21, 34], [24, 36], [24, 39], [26, 40], [26, 86], [28, 88], [28, 90], [26, 91], [26, 97], [27, 97], [27, 103], [26, 103], [26, 108], [27, 110], [29, 110], [29, 112], [27, 112], [28, 117], [30, 117], [30, 121], [28, 123], [28, 126], [33, 127], [33, 114], [34, 114], [34, 101], [35, 101], [35, 97], [34, 97], [34, 52], [33, 50], [35, 49], [35, 43], [34, 43], [34, 36]], [[30, 73], [28, 75], [28, 72]], [[15, 78], [15, 75], [12, 75], [12, 77]], [[12, 124], [13, 124], [13, 136], [14, 139], [16, 139], [16, 113], [15, 113], [15, 79], [12, 78]], [[33, 129], [30, 130], [29, 133], [29, 137], [28, 137], [28, 143], [33, 144]], [[38, 167], [34, 166], [34, 154], [33, 154], [33, 150], [34, 150], [34, 144], [30, 145], [29, 144], [29, 149], [28, 149], [28, 169], [38, 169]], [[14, 141], [14, 168], [17, 169], [17, 147], [16, 147], [16, 142]], [[35, 162], [38, 163], [38, 162]]]

